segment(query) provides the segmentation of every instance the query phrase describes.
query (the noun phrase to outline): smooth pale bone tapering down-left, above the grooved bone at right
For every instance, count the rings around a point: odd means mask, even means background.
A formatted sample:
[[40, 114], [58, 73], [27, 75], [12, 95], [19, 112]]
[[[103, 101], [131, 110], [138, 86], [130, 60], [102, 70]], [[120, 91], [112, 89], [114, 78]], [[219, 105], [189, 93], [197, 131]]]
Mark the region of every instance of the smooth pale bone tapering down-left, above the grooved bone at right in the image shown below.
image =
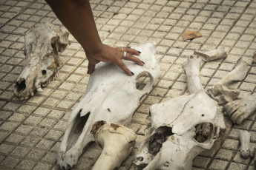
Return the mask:
[[226, 85], [232, 81], [243, 81], [243, 79], [246, 78], [248, 70], [249, 68], [246, 61], [240, 59], [232, 72], [229, 72], [226, 76], [224, 76], [218, 84]]

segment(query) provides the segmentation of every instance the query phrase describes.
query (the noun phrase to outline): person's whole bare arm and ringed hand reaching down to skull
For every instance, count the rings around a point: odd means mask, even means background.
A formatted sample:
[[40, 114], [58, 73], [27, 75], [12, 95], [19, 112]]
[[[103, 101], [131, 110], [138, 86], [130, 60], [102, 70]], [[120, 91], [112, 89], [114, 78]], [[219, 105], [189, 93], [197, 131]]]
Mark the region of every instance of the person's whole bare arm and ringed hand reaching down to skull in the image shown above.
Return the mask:
[[127, 75], [133, 75], [122, 62], [123, 52], [127, 52], [125, 60], [143, 66], [144, 63], [134, 55], [140, 55], [137, 50], [125, 47], [113, 48], [102, 44], [99, 38], [93, 12], [88, 0], [45, 0], [50, 5], [59, 21], [68, 29], [74, 38], [82, 45], [88, 58], [88, 72], [94, 71], [95, 65], [100, 61], [114, 63]]

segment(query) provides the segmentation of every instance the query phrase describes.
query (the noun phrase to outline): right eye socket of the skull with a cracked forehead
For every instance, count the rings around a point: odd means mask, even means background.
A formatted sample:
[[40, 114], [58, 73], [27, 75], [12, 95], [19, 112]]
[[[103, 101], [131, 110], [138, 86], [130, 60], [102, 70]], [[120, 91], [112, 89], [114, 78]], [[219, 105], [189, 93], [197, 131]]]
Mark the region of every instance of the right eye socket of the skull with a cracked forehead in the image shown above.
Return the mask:
[[199, 143], [204, 143], [206, 140], [209, 140], [214, 132], [214, 126], [212, 123], [200, 123], [194, 126], [194, 128], [196, 129], [194, 139]]

